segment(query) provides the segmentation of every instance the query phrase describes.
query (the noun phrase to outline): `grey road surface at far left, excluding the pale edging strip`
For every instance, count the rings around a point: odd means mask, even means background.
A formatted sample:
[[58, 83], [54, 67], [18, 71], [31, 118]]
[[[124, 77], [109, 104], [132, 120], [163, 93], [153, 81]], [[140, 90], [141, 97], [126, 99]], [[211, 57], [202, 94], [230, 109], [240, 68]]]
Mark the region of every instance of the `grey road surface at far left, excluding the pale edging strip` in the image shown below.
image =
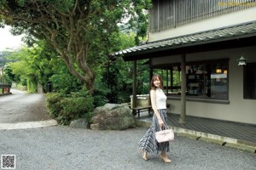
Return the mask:
[[13, 94], [0, 96], [0, 123], [50, 120], [44, 94], [25, 94], [11, 88]]

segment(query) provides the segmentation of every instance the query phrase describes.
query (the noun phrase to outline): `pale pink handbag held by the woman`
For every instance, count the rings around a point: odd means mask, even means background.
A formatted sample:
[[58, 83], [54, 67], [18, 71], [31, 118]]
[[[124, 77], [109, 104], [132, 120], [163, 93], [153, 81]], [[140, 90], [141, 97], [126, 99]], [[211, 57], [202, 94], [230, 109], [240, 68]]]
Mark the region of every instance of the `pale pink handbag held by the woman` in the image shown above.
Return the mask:
[[174, 140], [174, 132], [172, 128], [162, 130], [160, 127], [160, 131], [155, 133], [155, 139], [158, 141], [158, 143], [172, 141]]

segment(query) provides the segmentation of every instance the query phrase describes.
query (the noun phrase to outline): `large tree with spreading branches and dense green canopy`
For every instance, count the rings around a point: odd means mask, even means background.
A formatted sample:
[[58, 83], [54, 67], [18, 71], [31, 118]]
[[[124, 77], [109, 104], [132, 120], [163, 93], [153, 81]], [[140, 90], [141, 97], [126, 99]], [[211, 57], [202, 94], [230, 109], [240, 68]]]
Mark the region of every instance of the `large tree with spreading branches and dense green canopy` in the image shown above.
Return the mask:
[[4, 0], [0, 24], [13, 26], [15, 35], [25, 33], [29, 46], [35, 39], [51, 44], [68, 71], [93, 91], [97, 69], [119, 49], [118, 24], [134, 31], [138, 43], [146, 36], [150, 5], [150, 0]]

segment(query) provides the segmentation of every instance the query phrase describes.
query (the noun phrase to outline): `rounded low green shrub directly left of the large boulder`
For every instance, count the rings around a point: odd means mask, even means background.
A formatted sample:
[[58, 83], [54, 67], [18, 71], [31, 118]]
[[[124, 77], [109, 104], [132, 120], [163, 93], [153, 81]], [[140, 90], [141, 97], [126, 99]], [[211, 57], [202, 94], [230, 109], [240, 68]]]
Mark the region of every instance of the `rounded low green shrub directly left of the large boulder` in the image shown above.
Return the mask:
[[81, 90], [72, 94], [49, 93], [46, 95], [49, 115], [62, 125], [84, 117], [91, 122], [93, 116], [93, 98], [88, 92]]

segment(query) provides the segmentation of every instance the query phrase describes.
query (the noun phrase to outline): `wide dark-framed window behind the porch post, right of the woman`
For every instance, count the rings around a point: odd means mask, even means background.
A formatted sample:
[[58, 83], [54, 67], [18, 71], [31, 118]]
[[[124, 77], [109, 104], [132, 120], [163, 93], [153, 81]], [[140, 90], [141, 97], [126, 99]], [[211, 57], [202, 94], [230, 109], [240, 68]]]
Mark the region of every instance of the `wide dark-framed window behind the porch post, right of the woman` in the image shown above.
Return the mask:
[[[165, 78], [165, 81], [170, 81], [169, 83], [164, 81], [166, 94], [179, 95], [182, 80], [180, 66], [171, 66], [168, 71], [170, 73], [167, 75], [171, 76]], [[228, 71], [228, 59], [187, 63], [187, 96], [205, 99], [228, 99]]]

